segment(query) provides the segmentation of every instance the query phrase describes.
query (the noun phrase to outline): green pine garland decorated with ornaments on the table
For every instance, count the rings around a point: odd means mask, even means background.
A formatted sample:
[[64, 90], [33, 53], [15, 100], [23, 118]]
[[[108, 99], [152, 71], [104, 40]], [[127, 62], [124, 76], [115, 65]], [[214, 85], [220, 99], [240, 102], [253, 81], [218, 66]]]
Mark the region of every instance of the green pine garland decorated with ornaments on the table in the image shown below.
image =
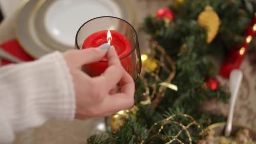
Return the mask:
[[[227, 102], [229, 94], [218, 86], [216, 90], [205, 87], [205, 77], [216, 77], [218, 69], [216, 64], [220, 63], [224, 56], [235, 46], [243, 42], [243, 35], [251, 19], [256, 12], [256, 2], [251, 0], [184, 0], [185, 3], [176, 7], [170, 5], [169, 8], [174, 13], [174, 19], [166, 27], [163, 19], [153, 16], [145, 18], [144, 32], [151, 35], [166, 53], [171, 56], [176, 64], [176, 75], [171, 83], [178, 86], [178, 91], [167, 89], [160, 104], [153, 108], [150, 105], [139, 105], [143, 100], [143, 83], [140, 79], [136, 81], [135, 104], [139, 107], [136, 115], [131, 115], [129, 120], [118, 129], [116, 133], [106, 135], [93, 135], [88, 139], [89, 144], [144, 144], [166, 143], [175, 136], [181, 127], [168, 124], [163, 131], [154, 136], [160, 125], [156, 125], [149, 131], [154, 123], [169, 117], [170, 115], [187, 114], [202, 125], [198, 128], [192, 126], [189, 132], [192, 136], [192, 143], [197, 143], [204, 136], [198, 135], [203, 128], [212, 123], [226, 120], [222, 115], [213, 115], [202, 109], [206, 100], [216, 98], [219, 102]], [[248, 3], [245, 5], [245, 1]], [[218, 14], [221, 24], [218, 34], [210, 43], [206, 43], [207, 29], [197, 23], [197, 16], [205, 6], [211, 5]], [[251, 9], [251, 8], [252, 9]], [[185, 48], [181, 48], [185, 45]], [[255, 38], [252, 40], [250, 48], [256, 46]], [[156, 59], [159, 53], [156, 54]], [[163, 73], [161, 78], [167, 77]], [[154, 77], [146, 75], [148, 85], [155, 82]], [[184, 117], [174, 117], [173, 120], [187, 125], [190, 121]], [[181, 133], [178, 137], [184, 143], [189, 143], [186, 133]], [[172, 144], [178, 144], [173, 141]]]

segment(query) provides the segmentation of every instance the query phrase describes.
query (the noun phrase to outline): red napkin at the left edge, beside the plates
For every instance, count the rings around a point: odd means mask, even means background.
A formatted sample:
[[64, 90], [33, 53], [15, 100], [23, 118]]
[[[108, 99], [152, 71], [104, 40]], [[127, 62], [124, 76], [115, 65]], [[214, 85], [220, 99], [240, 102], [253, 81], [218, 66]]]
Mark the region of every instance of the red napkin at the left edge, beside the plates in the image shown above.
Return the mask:
[[[32, 61], [34, 58], [29, 56], [21, 45], [19, 45], [19, 42], [16, 39], [8, 40], [5, 43], [2, 43], [0, 47], [6, 51], [7, 53], [10, 53], [11, 55], [23, 60], [23, 61]], [[1, 58], [0, 58], [1, 59]], [[11, 64], [10, 61], [7, 61], [5, 59], [2, 59], [2, 65]]]

